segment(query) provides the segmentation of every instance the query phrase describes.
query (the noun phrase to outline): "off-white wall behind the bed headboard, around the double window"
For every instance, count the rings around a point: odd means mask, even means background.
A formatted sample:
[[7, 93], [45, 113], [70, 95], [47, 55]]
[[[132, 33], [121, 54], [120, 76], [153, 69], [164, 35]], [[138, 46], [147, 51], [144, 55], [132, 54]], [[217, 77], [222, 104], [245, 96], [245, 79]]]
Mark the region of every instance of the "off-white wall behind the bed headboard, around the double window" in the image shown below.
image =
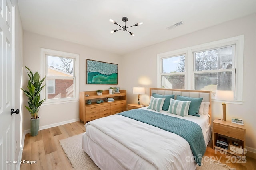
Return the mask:
[[[175, 28], [175, 29], [178, 29]], [[169, 41], [146, 47], [122, 58], [121, 69], [126, 74], [121, 76], [120, 85], [127, 90], [127, 103], [136, 103], [137, 95], [132, 94], [132, 87], [146, 87], [146, 94], [140, 95], [141, 104], [149, 103], [149, 87], [156, 87], [156, 55], [172, 50], [200, 45], [212, 41], [244, 35], [244, 104], [227, 104], [226, 118], [238, 117], [244, 119], [246, 128], [246, 146], [256, 152], [256, 15], [250, 15], [229, 21], [214, 27], [202, 29]], [[172, 31], [172, 30], [170, 30]], [[131, 67], [132, 66], [132, 67]], [[222, 117], [222, 104], [213, 102], [212, 121]]]

